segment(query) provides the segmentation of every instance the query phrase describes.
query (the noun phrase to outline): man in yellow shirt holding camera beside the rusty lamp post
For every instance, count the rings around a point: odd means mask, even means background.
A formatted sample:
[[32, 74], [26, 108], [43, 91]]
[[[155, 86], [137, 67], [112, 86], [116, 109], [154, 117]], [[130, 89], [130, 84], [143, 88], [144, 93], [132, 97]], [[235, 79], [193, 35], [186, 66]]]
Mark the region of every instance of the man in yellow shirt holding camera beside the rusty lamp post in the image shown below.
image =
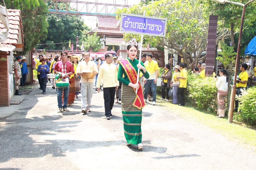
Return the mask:
[[[248, 73], [246, 72], [248, 65], [246, 63], [242, 63], [240, 66], [241, 73], [236, 79], [237, 82], [237, 90], [235, 92], [236, 95], [242, 95], [241, 89], [245, 89], [248, 81]], [[238, 111], [239, 101], [235, 100], [235, 108], [234, 111]]]

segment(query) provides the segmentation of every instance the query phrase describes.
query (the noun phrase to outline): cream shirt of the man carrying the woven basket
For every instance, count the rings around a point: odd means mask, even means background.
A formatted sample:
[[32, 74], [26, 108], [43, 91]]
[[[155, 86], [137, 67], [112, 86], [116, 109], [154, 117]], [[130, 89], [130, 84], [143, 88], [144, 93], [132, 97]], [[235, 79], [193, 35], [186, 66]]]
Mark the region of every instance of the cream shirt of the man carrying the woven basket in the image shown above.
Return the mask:
[[[98, 68], [96, 66], [96, 63], [94, 61], [88, 61], [87, 63], [84, 61], [81, 61], [78, 63], [78, 66], [77, 66], [77, 73], [82, 73], [82, 72], [85, 72], [85, 73], [92, 73], [93, 71], [96, 71], [98, 73]], [[81, 83], [93, 83], [93, 79], [84, 79], [83, 76], [81, 76], [81, 80], [80, 80]]]

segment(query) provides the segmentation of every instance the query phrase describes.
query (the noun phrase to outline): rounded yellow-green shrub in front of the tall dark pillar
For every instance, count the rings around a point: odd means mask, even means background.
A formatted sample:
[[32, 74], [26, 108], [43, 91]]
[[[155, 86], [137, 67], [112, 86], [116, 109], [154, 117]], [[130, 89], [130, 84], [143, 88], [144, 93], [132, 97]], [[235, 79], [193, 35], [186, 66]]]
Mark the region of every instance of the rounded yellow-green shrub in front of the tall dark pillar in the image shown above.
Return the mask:
[[[195, 107], [208, 113], [214, 113], [217, 110], [217, 88], [212, 77], [205, 79], [192, 77], [189, 82], [188, 92], [189, 99]], [[194, 79], [194, 80], [193, 80]]]

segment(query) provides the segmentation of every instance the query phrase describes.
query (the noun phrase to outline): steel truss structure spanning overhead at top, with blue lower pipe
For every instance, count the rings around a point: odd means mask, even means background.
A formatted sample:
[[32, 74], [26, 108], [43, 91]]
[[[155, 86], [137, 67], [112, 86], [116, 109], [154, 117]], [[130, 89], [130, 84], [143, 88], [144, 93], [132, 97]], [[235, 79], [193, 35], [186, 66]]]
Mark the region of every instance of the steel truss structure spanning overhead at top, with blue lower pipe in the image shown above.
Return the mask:
[[[113, 0], [113, 3], [99, 3], [98, 0], [95, 0], [95, 2], [81, 0], [45, 0], [45, 3], [47, 1], [52, 2], [48, 7], [49, 13], [67, 15], [115, 16], [117, 8], [130, 7], [127, 2], [128, 0], [124, 0], [125, 4], [123, 5], [117, 4], [116, 0]], [[63, 3], [59, 8], [57, 5], [58, 2]], [[70, 4], [70, 7], [75, 10], [69, 11], [68, 4]], [[55, 7], [55, 9], [52, 9], [53, 7]], [[63, 8], [66, 10], [63, 10]]]

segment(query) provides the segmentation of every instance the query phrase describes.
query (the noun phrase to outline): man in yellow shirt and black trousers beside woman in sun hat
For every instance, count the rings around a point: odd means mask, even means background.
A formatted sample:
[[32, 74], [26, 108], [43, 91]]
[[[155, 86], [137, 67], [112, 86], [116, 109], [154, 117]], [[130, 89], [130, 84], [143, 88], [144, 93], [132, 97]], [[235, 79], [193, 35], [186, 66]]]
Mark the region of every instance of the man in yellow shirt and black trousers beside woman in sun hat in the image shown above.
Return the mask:
[[177, 91], [178, 105], [185, 106], [184, 92], [187, 88], [187, 70], [183, 63], [179, 64], [179, 69], [181, 70], [180, 75], [177, 77], [179, 79], [179, 88]]

